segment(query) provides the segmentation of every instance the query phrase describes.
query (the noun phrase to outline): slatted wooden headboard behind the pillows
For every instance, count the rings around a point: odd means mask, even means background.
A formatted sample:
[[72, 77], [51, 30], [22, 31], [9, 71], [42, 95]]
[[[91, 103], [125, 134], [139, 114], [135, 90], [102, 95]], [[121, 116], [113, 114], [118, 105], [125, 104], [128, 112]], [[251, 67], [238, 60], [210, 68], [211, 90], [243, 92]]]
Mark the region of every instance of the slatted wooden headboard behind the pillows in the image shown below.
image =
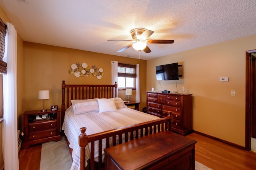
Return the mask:
[[[71, 106], [71, 100], [94, 99], [94, 98], [115, 98], [117, 84], [65, 84], [62, 81], [62, 105], [61, 105], [61, 125], [63, 125], [66, 109]], [[66, 98], [66, 102], [65, 102]]]

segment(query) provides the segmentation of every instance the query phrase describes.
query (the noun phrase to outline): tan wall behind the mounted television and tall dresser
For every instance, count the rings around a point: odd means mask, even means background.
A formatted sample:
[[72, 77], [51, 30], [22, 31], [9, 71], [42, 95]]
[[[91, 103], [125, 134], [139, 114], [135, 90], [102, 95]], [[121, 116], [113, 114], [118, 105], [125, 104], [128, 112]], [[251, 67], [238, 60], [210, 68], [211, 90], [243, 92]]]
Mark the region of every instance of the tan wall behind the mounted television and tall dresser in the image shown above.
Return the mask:
[[[147, 61], [147, 75], [155, 66], [183, 64], [178, 91], [193, 94], [193, 129], [245, 146], [245, 52], [256, 49], [256, 35], [192, 49]], [[228, 82], [220, 82], [228, 77]], [[160, 87], [162, 85], [162, 89]], [[176, 81], [147, 77], [147, 90], [176, 91]], [[236, 96], [231, 96], [236, 90]]]

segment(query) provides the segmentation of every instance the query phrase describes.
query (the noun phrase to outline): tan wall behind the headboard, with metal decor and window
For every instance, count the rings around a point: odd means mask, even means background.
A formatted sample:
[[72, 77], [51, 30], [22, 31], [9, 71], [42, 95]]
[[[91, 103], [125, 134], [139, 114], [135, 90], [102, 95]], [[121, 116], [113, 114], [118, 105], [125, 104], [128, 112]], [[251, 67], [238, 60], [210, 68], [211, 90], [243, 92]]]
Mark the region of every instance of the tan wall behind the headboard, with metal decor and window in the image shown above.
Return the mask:
[[[38, 90], [50, 90], [50, 99], [45, 100], [45, 108], [62, 104], [62, 80], [66, 84], [111, 84], [111, 61], [119, 63], [140, 64], [140, 96], [141, 108], [146, 106], [146, 61], [24, 42], [24, 77], [25, 96], [23, 108], [25, 110], [42, 109], [43, 101], [38, 100]], [[88, 77], [75, 77], [70, 74], [71, 64], [87, 63], [104, 69], [104, 76], [98, 80], [90, 74]], [[127, 100], [124, 91], [119, 91], [119, 97]], [[135, 91], [130, 96], [135, 100]]]

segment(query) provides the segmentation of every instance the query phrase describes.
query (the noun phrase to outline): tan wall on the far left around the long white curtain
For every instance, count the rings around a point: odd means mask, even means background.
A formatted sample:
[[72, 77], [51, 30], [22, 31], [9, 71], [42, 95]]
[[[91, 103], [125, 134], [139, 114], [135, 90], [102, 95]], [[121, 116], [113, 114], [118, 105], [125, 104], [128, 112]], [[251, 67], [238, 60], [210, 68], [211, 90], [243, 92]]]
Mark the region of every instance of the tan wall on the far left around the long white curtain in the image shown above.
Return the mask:
[[[4, 21], [4, 23], [11, 23], [10, 19], [0, 6], [0, 18]], [[15, 25], [14, 25], [15, 27]], [[7, 63], [8, 64], [8, 63]], [[24, 96], [24, 74], [23, 74], [23, 40], [21, 39], [19, 33], [17, 32], [17, 118], [18, 118], [18, 129], [22, 129], [22, 101]], [[4, 164], [3, 156], [2, 156], [2, 123], [0, 124], [0, 167]]]

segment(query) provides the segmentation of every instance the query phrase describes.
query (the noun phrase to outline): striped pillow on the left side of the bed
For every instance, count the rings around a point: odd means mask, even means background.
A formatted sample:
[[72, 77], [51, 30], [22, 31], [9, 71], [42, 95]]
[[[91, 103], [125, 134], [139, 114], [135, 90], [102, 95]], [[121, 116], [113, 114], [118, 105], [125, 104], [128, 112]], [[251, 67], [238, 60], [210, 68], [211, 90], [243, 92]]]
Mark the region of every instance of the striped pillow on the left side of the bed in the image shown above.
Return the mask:
[[99, 112], [97, 99], [71, 100], [74, 115]]

